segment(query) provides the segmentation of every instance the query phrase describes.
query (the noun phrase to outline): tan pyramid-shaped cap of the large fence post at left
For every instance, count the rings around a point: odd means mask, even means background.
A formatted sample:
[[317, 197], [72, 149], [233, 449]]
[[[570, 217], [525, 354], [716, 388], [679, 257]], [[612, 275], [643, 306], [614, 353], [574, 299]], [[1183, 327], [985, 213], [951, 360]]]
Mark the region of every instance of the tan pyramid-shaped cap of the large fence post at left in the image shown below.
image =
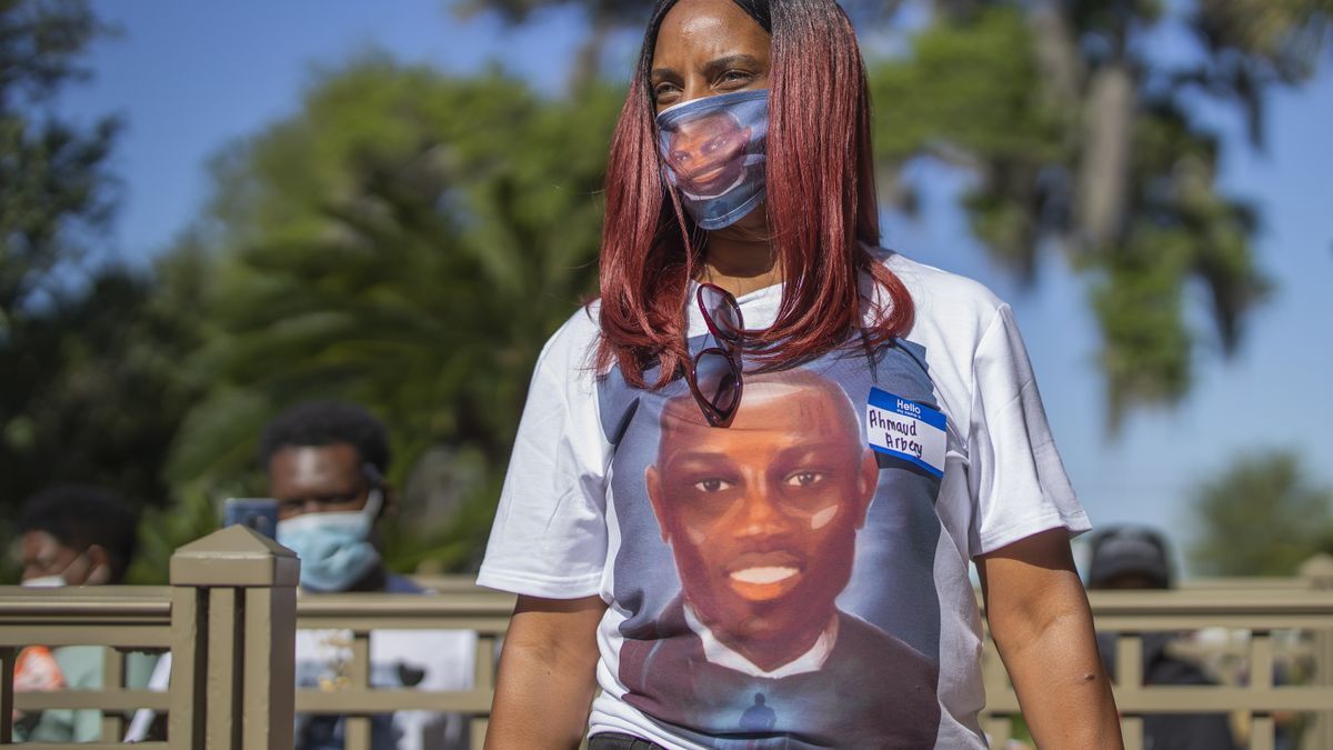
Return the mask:
[[296, 552], [245, 526], [228, 526], [171, 556], [172, 586], [296, 586]]

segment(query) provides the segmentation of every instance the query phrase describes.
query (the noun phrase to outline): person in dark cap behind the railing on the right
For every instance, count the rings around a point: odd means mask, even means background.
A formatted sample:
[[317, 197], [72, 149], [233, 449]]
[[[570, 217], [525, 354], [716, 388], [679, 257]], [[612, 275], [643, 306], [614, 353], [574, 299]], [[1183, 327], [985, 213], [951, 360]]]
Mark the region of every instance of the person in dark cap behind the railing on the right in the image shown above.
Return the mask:
[[[1090, 540], [1089, 590], [1166, 590], [1172, 587], [1170, 547], [1166, 539], [1138, 526], [1116, 526]], [[1174, 657], [1169, 645], [1176, 633], [1145, 633], [1145, 685], [1212, 685], [1194, 663]], [[1097, 649], [1106, 671], [1116, 674], [1116, 634], [1098, 633]], [[1144, 746], [1153, 750], [1232, 750], [1226, 714], [1144, 714]]]

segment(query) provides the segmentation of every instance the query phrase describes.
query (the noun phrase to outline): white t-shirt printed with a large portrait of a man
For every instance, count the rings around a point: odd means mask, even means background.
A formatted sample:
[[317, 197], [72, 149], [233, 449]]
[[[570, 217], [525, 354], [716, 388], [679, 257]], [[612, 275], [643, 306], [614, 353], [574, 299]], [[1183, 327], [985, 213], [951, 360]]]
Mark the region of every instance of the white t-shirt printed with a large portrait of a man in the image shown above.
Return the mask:
[[[596, 307], [543, 350], [477, 582], [609, 605], [591, 733], [985, 747], [968, 563], [1089, 523], [1009, 307], [882, 262], [916, 304], [910, 332], [746, 370], [725, 428], [682, 379], [647, 391], [599, 375]], [[780, 300], [769, 287], [737, 302], [753, 330]], [[717, 346], [688, 315], [690, 351]]]

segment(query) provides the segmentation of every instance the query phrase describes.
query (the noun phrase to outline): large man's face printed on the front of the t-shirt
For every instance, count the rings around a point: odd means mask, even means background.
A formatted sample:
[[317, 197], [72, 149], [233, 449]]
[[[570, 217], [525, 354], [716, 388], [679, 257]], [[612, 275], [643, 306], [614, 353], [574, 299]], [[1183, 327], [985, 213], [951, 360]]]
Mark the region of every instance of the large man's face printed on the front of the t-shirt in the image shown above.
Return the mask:
[[834, 617], [878, 476], [842, 391], [805, 380], [746, 383], [728, 428], [674, 402], [647, 472], [685, 599], [764, 669], [809, 650]]

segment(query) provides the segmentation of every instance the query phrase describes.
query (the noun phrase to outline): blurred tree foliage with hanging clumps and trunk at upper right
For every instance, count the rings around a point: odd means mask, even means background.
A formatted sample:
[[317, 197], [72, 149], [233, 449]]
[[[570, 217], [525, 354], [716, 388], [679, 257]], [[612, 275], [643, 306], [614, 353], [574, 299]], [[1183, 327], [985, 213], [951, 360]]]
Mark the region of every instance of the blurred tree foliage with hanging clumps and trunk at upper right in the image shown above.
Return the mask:
[[1086, 275], [1112, 428], [1188, 392], [1209, 339], [1188, 323], [1190, 287], [1208, 291], [1226, 352], [1269, 291], [1254, 210], [1218, 191], [1218, 141], [1186, 105], [1212, 61], [1157, 64], [1140, 39], [1157, 23], [1150, 3], [977, 4], [941, 13], [872, 76], [890, 184], [921, 155], [961, 165], [993, 259], [1030, 282], [1054, 247]]

